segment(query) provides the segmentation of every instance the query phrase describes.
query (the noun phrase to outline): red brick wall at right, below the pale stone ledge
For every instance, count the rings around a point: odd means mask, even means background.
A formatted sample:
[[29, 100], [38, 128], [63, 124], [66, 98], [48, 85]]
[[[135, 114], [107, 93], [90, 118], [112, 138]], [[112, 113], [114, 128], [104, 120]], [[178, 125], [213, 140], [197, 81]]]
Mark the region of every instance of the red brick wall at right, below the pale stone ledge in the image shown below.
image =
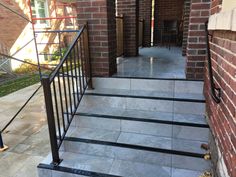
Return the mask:
[[236, 32], [213, 31], [210, 45], [216, 87], [221, 88], [221, 103], [210, 95], [206, 69], [205, 97], [211, 129], [218, 142], [230, 176], [236, 176]]

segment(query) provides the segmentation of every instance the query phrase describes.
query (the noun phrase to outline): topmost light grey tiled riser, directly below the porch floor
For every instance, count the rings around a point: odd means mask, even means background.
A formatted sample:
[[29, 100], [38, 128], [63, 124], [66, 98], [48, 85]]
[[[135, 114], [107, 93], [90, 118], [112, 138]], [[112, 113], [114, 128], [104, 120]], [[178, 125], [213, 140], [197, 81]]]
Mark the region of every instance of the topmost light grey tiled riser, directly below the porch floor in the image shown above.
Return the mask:
[[128, 89], [175, 93], [203, 93], [203, 82], [180, 80], [93, 78], [96, 89]]

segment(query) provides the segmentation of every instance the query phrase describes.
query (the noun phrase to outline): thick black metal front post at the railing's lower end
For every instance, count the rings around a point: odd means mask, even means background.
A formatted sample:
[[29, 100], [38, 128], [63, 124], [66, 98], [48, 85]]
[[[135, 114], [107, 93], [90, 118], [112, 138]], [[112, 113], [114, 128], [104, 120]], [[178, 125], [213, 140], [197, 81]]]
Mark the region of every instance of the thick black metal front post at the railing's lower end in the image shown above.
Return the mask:
[[46, 105], [46, 113], [47, 113], [47, 120], [48, 120], [48, 130], [49, 130], [49, 137], [50, 137], [50, 144], [51, 144], [51, 151], [52, 151], [52, 164], [59, 165], [61, 159], [59, 157], [59, 148], [57, 144], [57, 135], [56, 135], [56, 126], [55, 126], [55, 119], [53, 114], [53, 104], [52, 104], [52, 93], [50, 87], [50, 80], [48, 77], [42, 78], [42, 85], [44, 91], [44, 99]]

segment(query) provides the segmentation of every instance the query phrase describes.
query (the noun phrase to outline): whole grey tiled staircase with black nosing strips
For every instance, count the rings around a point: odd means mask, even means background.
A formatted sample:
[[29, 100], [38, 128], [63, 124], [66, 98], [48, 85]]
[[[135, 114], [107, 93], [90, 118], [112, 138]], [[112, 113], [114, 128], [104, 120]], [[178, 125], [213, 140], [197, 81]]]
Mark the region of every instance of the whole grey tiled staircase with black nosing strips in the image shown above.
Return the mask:
[[211, 169], [203, 82], [94, 78], [67, 133], [59, 166], [39, 177], [198, 177]]

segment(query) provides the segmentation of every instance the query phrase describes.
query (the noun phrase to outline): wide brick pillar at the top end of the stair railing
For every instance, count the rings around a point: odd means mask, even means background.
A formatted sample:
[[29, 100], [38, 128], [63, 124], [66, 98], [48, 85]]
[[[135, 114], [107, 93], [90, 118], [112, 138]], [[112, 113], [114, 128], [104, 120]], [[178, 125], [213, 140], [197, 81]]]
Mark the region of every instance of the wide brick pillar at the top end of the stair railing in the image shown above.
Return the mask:
[[93, 76], [116, 73], [115, 0], [77, 0], [79, 25], [89, 24]]

